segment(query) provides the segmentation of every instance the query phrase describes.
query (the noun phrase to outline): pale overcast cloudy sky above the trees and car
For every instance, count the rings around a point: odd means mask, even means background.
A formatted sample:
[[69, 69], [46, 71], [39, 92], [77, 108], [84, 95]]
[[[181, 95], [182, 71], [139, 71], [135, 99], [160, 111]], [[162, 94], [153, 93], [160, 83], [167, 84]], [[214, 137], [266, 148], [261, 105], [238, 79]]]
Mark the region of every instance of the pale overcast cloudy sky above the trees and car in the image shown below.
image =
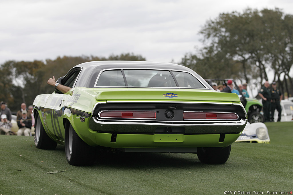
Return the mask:
[[292, 0], [1, 0], [0, 64], [128, 52], [178, 62], [207, 20], [248, 7], [293, 14]]

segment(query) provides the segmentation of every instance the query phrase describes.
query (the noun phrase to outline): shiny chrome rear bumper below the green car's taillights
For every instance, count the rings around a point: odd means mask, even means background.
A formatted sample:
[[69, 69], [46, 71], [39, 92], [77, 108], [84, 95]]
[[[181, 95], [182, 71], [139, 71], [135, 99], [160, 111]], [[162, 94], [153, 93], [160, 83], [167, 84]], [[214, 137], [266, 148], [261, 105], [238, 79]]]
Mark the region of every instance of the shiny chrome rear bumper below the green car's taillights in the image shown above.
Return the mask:
[[181, 134], [219, 134], [242, 132], [247, 119], [229, 122], [198, 121], [193, 123], [151, 123], [151, 122], [110, 122], [98, 121], [91, 117], [89, 128], [106, 133], [181, 133]]

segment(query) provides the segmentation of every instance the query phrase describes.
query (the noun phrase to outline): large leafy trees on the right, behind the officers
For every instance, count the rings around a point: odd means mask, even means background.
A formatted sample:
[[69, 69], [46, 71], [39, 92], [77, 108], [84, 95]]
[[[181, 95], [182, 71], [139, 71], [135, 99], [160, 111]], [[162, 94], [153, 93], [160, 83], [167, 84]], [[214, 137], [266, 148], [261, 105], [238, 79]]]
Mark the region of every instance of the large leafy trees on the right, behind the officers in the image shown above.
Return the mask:
[[204, 78], [234, 78], [254, 84], [268, 80], [293, 95], [293, 15], [275, 8], [221, 13], [199, 32], [203, 47], [179, 62]]

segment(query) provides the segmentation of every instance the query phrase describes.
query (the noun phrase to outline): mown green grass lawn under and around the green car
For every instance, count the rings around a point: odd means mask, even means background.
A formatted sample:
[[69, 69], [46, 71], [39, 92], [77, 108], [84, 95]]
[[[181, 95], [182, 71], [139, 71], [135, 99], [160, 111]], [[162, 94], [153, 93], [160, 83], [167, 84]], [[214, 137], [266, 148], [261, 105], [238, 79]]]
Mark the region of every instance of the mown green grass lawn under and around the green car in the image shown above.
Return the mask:
[[[64, 146], [1, 135], [0, 194], [225, 194], [293, 190], [293, 122], [266, 123], [271, 144], [232, 144], [223, 165], [196, 154], [104, 153], [90, 167], [67, 163]], [[55, 172], [55, 173], [49, 173]]]

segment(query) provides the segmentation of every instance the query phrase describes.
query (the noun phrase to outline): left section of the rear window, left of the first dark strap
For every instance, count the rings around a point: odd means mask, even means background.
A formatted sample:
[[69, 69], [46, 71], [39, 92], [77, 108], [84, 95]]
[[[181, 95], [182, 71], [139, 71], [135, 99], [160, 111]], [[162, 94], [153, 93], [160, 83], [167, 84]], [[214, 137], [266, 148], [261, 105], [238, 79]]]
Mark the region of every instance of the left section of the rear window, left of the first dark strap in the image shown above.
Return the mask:
[[98, 87], [125, 87], [125, 82], [122, 76], [121, 70], [106, 70], [101, 73], [98, 83]]

